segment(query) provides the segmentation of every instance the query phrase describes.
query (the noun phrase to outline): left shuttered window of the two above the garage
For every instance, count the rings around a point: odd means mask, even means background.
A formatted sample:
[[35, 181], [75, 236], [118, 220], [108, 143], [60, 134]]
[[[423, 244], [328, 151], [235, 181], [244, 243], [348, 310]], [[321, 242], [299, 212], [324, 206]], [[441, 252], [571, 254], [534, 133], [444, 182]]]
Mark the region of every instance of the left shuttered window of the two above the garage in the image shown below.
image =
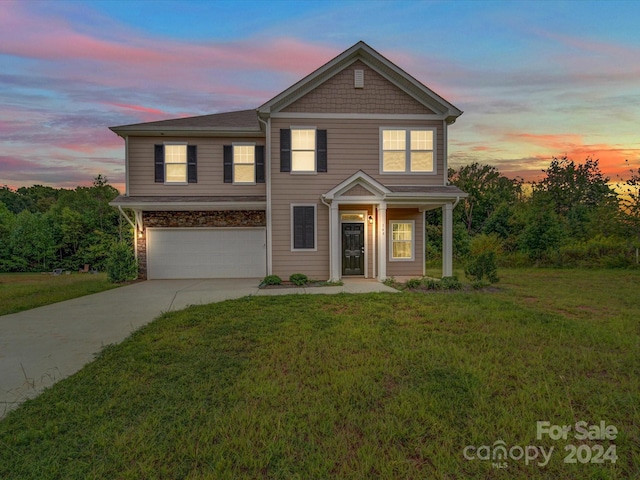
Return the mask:
[[186, 143], [155, 145], [155, 181], [167, 185], [197, 183], [196, 145]]

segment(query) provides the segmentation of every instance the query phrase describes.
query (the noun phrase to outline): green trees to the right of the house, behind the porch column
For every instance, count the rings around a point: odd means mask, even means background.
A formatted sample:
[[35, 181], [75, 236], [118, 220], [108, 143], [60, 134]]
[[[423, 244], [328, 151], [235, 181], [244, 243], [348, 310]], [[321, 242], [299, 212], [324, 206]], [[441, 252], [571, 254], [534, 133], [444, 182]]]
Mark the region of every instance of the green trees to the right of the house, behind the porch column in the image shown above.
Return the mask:
[[[640, 168], [628, 166], [619, 189], [598, 160], [553, 158], [538, 182], [525, 184], [490, 165], [449, 170], [468, 193], [454, 210], [454, 254], [491, 250], [503, 266], [625, 267], [638, 263]], [[441, 251], [441, 212], [427, 212], [427, 258]]]

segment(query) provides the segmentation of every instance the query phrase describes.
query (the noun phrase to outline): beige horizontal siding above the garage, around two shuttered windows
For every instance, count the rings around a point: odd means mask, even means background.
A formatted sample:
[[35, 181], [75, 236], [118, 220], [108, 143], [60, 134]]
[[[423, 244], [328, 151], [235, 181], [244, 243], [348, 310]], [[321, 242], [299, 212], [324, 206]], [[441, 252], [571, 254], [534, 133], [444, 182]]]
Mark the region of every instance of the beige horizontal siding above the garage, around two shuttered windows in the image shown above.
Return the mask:
[[[211, 196], [265, 195], [264, 183], [233, 185], [224, 183], [223, 145], [238, 139], [207, 137], [129, 137], [129, 196]], [[242, 142], [264, 145], [265, 139], [242, 138]], [[165, 142], [186, 142], [198, 146], [198, 183], [164, 185], [155, 183], [154, 145]], [[265, 153], [266, 156], [266, 153]]]

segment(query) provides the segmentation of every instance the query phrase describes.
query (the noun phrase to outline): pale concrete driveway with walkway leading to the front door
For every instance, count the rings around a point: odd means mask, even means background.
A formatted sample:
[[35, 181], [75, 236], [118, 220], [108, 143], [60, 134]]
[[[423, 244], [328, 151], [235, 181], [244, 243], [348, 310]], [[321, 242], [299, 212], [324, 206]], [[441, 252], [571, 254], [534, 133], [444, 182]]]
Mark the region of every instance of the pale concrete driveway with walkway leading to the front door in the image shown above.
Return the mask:
[[259, 282], [151, 280], [0, 316], [0, 418], [163, 312], [247, 295], [397, 292], [369, 279], [347, 279], [339, 287], [283, 289], [259, 289]]

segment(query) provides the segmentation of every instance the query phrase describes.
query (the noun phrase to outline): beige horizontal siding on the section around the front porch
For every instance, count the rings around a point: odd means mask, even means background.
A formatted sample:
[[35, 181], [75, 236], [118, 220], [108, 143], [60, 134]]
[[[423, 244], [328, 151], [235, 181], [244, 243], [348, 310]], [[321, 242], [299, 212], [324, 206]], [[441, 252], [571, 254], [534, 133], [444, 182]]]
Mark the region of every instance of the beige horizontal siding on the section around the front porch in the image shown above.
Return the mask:
[[[333, 187], [350, 177], [358, 170], [363, 170], [383, 185], [443, 185], [443, 122], [439, 121], [401, 121], [401, 120], [349, 120], [349, 119], [281, 119], [271, 120], [271, 205], [272, 205], [272, 265], [273, 273], [282, 278], [291, 273], [304, 273], [309, 277], [326, 279], [329, 277], [329, 215], [328, 208], [322, 204], [320, 197]], [[291, 126], [313, 126], [327, 130], [327, 173], [295, 174], [280, 172], [280, 129]], [[437, 174], [380, 174], [380, 127], [428, 126], [437, 129], [436, 161]], [[317, 251], [291, 251], [291, 205], [317, 204]], [[345, 207], [346, 208], [346, 207]], [[411, 215], [416, 218], [416, 230], [422, 230], [417, 210]], [[388, 218], [392, 218], [389, 217]], [[413, 218], [413, 217], [412, 217]], [[419, 220], [419, 221], [418, 221]], [[420, 228], [418, 228], [420, 226]], [[340, 235], [340, 232], [336, 233]], [[416, 261], [405, 262], [393, 267], [393, 271], [415, 270], [421, 275], [422, 232], [416, 232]], [[373, 242], [369, 242], [371, 246]], [[368, 259], [373, 257], [369, 252]], [[339, 253], [338, 253], [339, 254]], [[411, 263], [412, 265], [408, 265]], [[369, 274], [372, 275], [372, 265]], [[398, 273], [397, 275], [413, 273]], [[389, 273], [389, 275], [391, 275]]]

